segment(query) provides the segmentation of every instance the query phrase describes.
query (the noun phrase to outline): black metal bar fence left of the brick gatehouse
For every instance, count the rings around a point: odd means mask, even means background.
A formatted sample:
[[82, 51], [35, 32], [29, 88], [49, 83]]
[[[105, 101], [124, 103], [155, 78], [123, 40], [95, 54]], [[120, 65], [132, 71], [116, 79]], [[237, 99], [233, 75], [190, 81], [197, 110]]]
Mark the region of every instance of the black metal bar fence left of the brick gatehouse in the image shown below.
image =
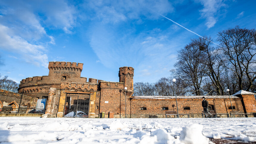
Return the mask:
[[48, 93], [0, 90], [0, 113], [45, 113]]

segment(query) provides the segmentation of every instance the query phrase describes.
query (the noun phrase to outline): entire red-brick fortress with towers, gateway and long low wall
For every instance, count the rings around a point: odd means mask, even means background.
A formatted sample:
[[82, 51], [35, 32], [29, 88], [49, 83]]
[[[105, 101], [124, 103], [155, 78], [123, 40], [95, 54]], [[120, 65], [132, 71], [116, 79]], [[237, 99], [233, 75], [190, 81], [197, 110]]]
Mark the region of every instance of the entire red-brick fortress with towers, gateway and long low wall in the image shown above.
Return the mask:
[[[107, 82], [81, 77], [82, 63], [49, 62], [48, 76], [23, 79], [19, 92], [47, 92], [46, 114], [51, 117], [148, 118], [165, 117], [166, 111], [177, 111], [173, 96], [132, 96], [132, 67], [119, 68], [119, 82]], [[127, 90], [124, 89], [127, 87]], [[255, 113], [254, 93], [230, 96], [234, 111]], [[178, 96], [179, 113], [202, 117], [202, 96]], [[230, 113], [229, 96], [205, 96], [209, 109], [215, 113]], [[105, 113], [105, 115], [104, 115]]]

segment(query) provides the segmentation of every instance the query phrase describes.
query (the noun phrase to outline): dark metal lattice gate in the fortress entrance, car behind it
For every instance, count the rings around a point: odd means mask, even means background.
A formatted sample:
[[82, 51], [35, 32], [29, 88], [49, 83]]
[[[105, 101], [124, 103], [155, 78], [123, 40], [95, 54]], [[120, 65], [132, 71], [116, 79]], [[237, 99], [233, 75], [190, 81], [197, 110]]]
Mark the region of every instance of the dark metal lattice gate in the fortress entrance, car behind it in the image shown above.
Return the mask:
[[90, 94], [67, 93], [65, 99], [64, 117], [88, 118]]

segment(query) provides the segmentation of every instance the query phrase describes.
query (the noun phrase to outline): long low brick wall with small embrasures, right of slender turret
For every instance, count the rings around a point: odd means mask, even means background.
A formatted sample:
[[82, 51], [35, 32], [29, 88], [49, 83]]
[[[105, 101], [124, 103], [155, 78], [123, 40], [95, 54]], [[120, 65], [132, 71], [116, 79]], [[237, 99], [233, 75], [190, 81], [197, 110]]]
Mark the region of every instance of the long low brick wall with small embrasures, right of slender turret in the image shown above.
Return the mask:
[[[219, 96], [220, 98], [210, 98], [212, 96], [205, 97], [209, 102], [209, 106], [215, 113], [230, 113], [230, 111], [232, 111], [228, 96]], [[243, 111], [241, 98], [232, 96], [231, 102], [232, 106], [235, 107], [235, 111]], [[166, 99], [138, 99], [132, 97], [130, 103], [132, 108], [132, 118], [149, 118], [149, 115], [157, 115], [159, 118], [165, 118], [166, 111], [177, 111], [175, 97]], [[190, 114], [190, 117], [202, 117], [202, 98], [186, 98], [186, 96], [179, 96], [179, 98], [177, 98], [177, 103], [179, 114]], [[146, 108], [146, 110], [141, 109], [142, 107], [144, 107], [144, 109]], [[168, 110], [166, 110], [166, 108], [168, 108]], [[181, 117], [186, 116], [184, 115]]]

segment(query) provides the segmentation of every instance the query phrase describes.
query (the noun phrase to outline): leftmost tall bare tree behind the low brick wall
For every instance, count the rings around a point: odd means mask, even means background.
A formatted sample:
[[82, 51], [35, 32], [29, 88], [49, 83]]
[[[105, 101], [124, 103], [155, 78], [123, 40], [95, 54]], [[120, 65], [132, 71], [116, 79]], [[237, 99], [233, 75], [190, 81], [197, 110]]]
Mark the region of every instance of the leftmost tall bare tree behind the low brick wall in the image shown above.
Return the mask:
[[178, 51], [177, 62], [174, 64], [175, 70], [171, 70], [172, 75], [182, 80], [189, 92], [197, 96], [202, 94], [202, 80], [206, 76], [205, 65], [202, 65], [203, 51], [195, 43], [191, 42]]

